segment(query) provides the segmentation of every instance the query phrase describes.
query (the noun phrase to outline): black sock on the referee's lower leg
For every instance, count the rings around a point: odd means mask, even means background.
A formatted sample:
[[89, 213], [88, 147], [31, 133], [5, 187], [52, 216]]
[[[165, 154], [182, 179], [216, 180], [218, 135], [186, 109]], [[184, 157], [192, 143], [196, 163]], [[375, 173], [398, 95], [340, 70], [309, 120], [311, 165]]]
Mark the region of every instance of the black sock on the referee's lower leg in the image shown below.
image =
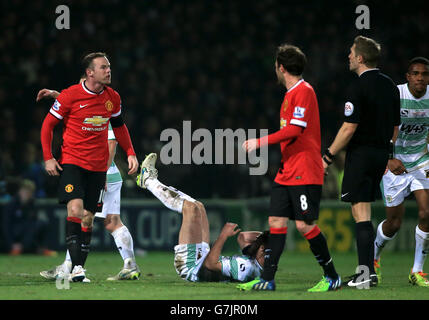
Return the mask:
[[374, 274], [374, 238], [375, 232], [371, 221], [356, 223], [356, 245], [360, 266], [367, 266], [370, 274]]

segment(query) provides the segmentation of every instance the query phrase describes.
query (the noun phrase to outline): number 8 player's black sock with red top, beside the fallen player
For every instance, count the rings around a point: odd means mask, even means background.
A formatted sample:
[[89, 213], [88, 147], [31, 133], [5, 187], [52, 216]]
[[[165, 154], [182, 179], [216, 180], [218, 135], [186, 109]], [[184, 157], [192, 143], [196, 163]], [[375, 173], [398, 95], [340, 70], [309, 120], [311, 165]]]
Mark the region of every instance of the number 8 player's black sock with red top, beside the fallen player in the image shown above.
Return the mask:
[[265, 247], [264, 270], [261, 278], [266, 281], [274, 280], [277, 265], [286, 243], [287, 227], [270, 228], [268, 244]]

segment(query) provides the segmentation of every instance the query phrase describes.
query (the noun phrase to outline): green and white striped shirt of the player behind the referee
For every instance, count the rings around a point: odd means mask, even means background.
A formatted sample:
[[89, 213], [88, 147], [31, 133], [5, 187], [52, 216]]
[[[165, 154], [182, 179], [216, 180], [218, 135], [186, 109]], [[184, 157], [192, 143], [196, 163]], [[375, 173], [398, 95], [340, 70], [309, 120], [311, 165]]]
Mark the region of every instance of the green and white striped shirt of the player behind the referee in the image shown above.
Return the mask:
[[395, 143], [395, 158], [401, 160], [408, 171], [413, 171], [429, 164], [429, 86], [419, 99], [412, 95], [407, 83], [398, 85], [398, 89], [401, 125]]

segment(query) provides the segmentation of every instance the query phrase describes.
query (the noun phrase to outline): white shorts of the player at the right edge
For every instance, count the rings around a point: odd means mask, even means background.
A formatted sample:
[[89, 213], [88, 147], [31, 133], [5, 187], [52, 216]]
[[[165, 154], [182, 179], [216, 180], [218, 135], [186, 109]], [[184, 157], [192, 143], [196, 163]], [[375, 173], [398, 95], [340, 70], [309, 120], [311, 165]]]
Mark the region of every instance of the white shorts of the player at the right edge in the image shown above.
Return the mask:
[[428, 167], [401, 175], [394, 175], [388, 170], [380, 184], [384, 205], [386, 207], [396, 207], [404, 202], [411, 192], [429, 190], [428, 173]]

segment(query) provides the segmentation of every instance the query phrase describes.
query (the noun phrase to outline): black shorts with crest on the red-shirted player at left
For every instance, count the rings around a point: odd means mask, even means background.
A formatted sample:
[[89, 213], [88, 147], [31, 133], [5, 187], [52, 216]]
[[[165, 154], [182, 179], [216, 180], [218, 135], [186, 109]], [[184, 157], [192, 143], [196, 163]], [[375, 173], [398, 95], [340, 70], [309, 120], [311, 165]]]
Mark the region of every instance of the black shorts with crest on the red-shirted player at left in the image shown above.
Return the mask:
[[101, 212], [103, 208], [106, 172], [89, 171], [73, 164], [63, 164], [58, 187], [58, 200], [67, 204], [82, 199], [84, 209]]

